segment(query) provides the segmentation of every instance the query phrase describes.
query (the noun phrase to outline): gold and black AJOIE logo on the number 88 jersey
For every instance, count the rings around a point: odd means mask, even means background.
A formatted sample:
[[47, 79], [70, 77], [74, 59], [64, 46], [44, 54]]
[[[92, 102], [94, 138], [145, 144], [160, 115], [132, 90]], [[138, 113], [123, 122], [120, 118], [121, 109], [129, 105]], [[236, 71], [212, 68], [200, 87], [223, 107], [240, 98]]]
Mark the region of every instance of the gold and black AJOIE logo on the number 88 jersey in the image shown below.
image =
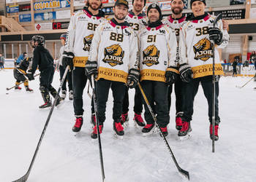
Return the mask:
[[116, 66], [123, 64], [124, 51], [119, 44], [113, 44], [110, 47], [104, 49], [105, 58], [104, 63], [110, 64], [110, 66]]

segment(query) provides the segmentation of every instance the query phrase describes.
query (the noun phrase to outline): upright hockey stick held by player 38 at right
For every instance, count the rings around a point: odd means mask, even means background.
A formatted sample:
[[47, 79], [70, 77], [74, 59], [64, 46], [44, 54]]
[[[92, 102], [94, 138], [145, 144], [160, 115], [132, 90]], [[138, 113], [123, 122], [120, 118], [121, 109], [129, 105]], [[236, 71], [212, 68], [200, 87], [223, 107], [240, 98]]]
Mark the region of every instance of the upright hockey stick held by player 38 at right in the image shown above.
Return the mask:
[[[219, 13], [217, 17], [214, 19], [213, 27], [216, 27], [217, 22], [222, 19], [222, 13]], [[213, 45], [213, 57], [212, 57], [212, 117], [211, 117], [211, 124], [212, 124], [212, 152], [215, 152], [215, 140], [214, 140], [214, 132], [215, 132], [215, 43], [212, 41]]]

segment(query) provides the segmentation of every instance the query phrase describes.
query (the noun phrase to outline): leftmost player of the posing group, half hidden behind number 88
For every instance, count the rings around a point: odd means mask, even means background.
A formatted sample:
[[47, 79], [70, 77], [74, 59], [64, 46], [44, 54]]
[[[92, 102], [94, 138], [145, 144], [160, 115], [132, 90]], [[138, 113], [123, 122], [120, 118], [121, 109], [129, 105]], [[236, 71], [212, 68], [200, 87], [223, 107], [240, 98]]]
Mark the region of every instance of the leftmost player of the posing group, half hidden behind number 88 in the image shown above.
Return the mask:
[[67, 40], [63, 54], [63, 66], [70, 66], [72, 71], [75, 112], [73, 132], [79, 132], [83, 125], [83, 90], [86, 87], [87, 77], [85, 64], [89, 56], [91, 40], [97, 25], [105, 20], [101, 0], [89, 0], [86, 7], [79, 10], [70, 18], [67, 30]]

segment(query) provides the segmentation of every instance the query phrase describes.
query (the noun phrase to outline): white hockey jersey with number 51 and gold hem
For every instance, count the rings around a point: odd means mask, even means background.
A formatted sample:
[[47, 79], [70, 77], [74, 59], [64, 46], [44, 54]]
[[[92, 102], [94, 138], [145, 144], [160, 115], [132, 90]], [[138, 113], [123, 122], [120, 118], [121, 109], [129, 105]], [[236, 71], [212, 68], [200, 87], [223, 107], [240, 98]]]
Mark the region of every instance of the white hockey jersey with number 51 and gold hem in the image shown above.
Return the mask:
[[165, 82], [165, 71], [176, 60], [177, 40], [167, 25], [146, 27], [139, 33], [140, 81]]

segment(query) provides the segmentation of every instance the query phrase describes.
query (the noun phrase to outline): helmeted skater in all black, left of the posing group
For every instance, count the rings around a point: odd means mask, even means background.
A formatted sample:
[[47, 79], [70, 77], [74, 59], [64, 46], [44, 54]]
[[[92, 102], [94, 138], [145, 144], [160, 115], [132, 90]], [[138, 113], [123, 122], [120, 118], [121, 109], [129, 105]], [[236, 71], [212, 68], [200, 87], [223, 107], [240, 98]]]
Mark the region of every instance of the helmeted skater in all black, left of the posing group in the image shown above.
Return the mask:
[[[35, 35], [31, 39], [32, 47], [34, 47], [33, 51], [33, 62], [31, 69], [29, 69], [28, 78], [29, 80], [34, 79], [34, 72], [37, 70], [37, 66], [40, 71], [40, 87], [39, 90], [42, 94], [42, 99], [44, 100], [44, 104], [39, 106], [39, 108], [49, 108], [52, 106], [50, 95], [53, 95], [53, 98], [56, 98], [57, 92], [51, 85], [53, 82], [53, 57], [50, 55], [50, 52], [45, 49], [45, 38], [43, 36]], [[50, 95], [49, 95], [50, 92]], [[61, 103], [61, 98], [59, 97], [56, 101], [56, 106]]]

